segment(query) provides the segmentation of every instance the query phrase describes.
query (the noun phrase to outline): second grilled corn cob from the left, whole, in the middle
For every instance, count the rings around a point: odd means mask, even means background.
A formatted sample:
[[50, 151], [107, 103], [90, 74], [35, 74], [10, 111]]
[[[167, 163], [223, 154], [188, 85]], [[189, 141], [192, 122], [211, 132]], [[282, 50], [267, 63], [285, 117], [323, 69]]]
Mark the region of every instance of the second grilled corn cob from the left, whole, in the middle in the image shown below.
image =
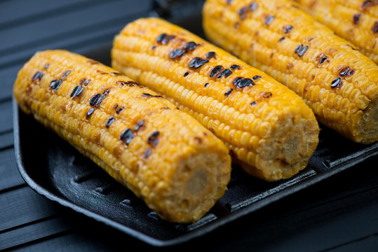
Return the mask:
[[259, 179], [297, 174], [318, 144], [316, 118], [295, 92], [165, 20], [126, 25], [114, 38], [112, 66], [208, 127]]

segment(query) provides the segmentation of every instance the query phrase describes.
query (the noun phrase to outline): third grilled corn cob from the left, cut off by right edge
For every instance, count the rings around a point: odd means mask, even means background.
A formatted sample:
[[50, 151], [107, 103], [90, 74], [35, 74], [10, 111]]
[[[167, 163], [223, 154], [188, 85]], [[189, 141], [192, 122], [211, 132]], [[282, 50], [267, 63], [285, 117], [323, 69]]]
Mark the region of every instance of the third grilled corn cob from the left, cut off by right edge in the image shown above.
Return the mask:
[[207, 0], [205, 35], [299, 94], [349, 139], [378, 139], [378, 66], [290, 1]]

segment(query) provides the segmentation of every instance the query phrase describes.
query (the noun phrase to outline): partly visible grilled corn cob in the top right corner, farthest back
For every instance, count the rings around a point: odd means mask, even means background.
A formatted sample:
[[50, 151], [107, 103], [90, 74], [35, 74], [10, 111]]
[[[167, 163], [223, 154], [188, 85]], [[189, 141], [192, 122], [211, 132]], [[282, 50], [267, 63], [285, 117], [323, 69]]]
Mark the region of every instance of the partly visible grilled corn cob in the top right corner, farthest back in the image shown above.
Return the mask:
[[293, 0], [378, 64], [378, 1]]

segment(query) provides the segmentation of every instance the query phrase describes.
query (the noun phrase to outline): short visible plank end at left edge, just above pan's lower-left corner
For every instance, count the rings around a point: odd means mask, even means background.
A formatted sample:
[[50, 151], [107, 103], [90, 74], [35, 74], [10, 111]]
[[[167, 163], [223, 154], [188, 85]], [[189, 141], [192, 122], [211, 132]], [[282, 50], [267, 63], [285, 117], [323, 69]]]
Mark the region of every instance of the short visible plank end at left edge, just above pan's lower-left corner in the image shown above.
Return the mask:
[[0, 192], [8, 188], [25, 184], [15, 164], [15, 151], [8, 148], [0, 151]]

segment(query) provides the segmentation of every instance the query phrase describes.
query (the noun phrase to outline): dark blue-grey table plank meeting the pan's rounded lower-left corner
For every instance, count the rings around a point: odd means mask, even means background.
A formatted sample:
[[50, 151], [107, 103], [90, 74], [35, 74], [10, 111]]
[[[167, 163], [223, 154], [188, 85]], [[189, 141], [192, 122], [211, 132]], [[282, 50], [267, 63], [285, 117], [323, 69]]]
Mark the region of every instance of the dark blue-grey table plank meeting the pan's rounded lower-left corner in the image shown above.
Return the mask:
[[[0, 194], [0, 232], [58, 213], [57, 204], [28, 186]], [[0, 242], [1, 244], [1, 242]]]

